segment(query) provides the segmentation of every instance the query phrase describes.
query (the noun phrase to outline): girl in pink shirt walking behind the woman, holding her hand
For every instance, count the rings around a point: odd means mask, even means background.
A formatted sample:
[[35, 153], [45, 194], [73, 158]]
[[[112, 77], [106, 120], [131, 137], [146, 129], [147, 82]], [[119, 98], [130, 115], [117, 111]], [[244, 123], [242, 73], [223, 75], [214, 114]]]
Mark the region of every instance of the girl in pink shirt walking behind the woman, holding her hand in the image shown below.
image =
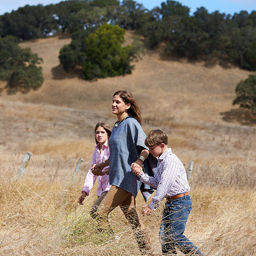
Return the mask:
[[[107, 160], [109, 157], [108, 139], [111, 135], [111, 129], [109, 124], [106, 122], [99, 122], [95, 126], [94, 133], [96, 147], [92, 153], [91, 166], [93, 164], [99, 164]], [[89, 196], [90, 190], [94, 185], [97, 177], [99, 176], [97, 188], [98, 199], [94, 202], [90, 211], [92, 217], [94, 217], [95, 212], [98, 209], [101, 201], [107, 195], [108, 190], [110, 189], [108, 172], [109, 166], [105, 166], [103, 170], [99, 172], [97, 175], [94, 175], [90, 168], [84, 181], [84, 188], [81, 191], [82, 195], [78, 199], [79, 204], [83, 204], [85, 196]]]

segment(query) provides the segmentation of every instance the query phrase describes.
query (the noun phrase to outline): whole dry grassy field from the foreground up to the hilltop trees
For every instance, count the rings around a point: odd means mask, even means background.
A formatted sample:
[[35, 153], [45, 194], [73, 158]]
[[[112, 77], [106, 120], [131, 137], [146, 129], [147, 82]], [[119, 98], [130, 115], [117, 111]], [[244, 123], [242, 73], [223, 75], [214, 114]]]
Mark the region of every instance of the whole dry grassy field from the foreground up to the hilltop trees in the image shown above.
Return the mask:
[[[132, 41], [133, 32], [126, 35]], [[95, 146], [93, 130], [113, 125], [113, 93], [137, 98], [145, 133], [159, 127], [181, 161], [194, 161], [193, 210], [186, 235], [209, 256], [256, 255], [256, 118], [232, 106], [236, 84], [252, 72], [205, 67], [148, 51], [131, 75], [84, 81], [58, 60], [68, 37], [23, 42], [43, 57], [44, 84], [28, 93], [0, 83], [0, 255], [140, 255], [132, 230], [117, 208], [111, 225], [121, 239], [97, 233], [89, 217], [96, 189], [83, 206], [76, 200]], [[24, 154], [33, 156], [21, 180]], [[76, 161], [84, 158], [75, 182]], [[138, 212], [145, 203], [137, 197]], [[160, 253], [160, 209], [142, 218]]]

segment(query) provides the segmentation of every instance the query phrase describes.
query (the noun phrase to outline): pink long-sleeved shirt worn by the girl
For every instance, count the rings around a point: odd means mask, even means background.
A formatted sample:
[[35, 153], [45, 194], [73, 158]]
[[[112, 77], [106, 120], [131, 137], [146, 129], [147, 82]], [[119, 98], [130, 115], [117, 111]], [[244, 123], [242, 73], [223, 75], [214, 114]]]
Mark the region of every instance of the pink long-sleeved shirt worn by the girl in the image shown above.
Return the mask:
[[[108, 142], [106, 142], [101, 149], [101, 153], [99, 150], [100, 143], [98, 143], [95, 147], [95, 150], [92, 153], [92, 164], [100, 164], [104, 160], [108, 159], [109, 156], [109, 148], [108, 148]], [[109, 166], [104, 167], [103, 170], [108, 169]], [[89, 196], [90, 190], [92, 189], [92, 186], [94, 185], [96, 179], [98, 177], [98, 188], [97, 188], [97, 195], [100, 196], [103, 192], [108, 191], [111, 187], [109, 185], [109, 175], [105, 174], [103, 176], [97, 176], [92, 174], [91, 168], [89, 168], [89, 171], [86, 175], [85, 181], [84, 181], [84, 188], [82, 191], [84, 191], [87, 196]], [[82, 192], [81, 191], [81, 192]]]

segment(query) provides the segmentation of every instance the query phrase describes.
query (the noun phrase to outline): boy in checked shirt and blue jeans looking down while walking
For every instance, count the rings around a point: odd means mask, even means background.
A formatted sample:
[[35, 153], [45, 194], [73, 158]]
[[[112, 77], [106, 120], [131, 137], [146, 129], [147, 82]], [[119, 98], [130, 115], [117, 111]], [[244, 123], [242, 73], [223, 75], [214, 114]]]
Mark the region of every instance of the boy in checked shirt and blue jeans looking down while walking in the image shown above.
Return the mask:
[[142, 168], [132, 172], [140, 180], [156, 189], [152, 202], [144, 207], [143, 216], [150, 215], [166, 198], [159, 238], [163, 254], [177, 254], [176, 249], [189, 255], [204, 255], [187, 237], [183, 235], [192, 208], [188, 196], [190, 189], [187, 175], [180, 159], [167, 148], [167, 134], [162, 130], [152, 130], [145, 139], [149, 153], [158, 156], [157, 172], [154, 177], [146, 175]]

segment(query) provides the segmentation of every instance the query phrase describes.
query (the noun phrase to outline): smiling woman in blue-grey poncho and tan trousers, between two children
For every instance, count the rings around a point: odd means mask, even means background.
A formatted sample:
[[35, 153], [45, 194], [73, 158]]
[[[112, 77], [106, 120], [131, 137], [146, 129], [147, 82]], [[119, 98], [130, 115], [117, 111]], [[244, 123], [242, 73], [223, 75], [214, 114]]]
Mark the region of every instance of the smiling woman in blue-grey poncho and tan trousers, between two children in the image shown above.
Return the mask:
[[[97, 216], [107, 219], [108, 213], [119, 205], [132, 226], [140, 250], [148, 252], [151, 250], [149, 239], [135, 208], [135, 197], [141, 181], [131, 171], [131, 167], [135, 170], [142, 168], [143, 161], [149, 154], [144, 144], [146, 135], [140, 126], [140, 107], [131, 92], [118, 91], [113, 97], [112, 113], [117, 116], [117, 121], [108, 141], [109, 159], [92, 166], [92, 172], [97, 175], [109, 165], [109, 184], [112, 185], [97, 211]], [[153, 176], [157, 161], [152, 156], [151, 158], [152, 161], [145, 161], [143, 167], [144, 171]], [[143, 192], [144, 198], [147, 198], [149, 189], [148, 187]]]

